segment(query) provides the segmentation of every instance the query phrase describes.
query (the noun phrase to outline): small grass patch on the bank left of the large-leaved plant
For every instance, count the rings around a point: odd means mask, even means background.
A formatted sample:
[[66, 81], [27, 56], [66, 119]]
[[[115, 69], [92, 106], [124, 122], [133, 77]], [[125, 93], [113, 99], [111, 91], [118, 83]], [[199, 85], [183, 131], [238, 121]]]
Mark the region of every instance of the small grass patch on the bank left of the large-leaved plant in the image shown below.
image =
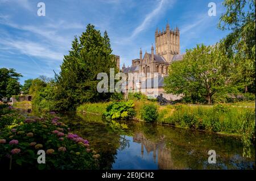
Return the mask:
[[106, 111], [106, 107], [110, 104], [108, 103], [84, 103], [81, 106], [77, 107], [77, 112], [88, 112], [88, 113], [97, 113], [102, 115]]

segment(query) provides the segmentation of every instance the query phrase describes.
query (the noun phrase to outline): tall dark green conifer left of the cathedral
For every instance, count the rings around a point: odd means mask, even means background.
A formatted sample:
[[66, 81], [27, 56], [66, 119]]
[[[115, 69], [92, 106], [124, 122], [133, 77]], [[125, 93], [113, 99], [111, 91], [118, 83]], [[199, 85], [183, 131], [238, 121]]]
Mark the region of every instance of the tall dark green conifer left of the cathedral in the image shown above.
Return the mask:
[[109, 93], [97, 92], [97, 74], [109, 74], [115, 66], [108, 33], [101, 36], [92, 24], [72, 41], [72, 48], [64, 56], [61, 71], [56, 74], [55, 103], [60, 110], [73, 110], [83, 102], [97, 102], [110, 98]]

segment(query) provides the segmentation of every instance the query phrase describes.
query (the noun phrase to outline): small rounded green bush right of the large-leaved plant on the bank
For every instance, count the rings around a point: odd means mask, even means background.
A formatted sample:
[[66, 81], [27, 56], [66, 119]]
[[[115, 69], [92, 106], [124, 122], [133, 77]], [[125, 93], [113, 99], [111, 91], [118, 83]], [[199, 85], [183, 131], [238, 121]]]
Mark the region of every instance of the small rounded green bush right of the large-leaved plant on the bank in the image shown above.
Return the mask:
[[141, 118], [145, 121], [156, 121], [158, 119], [158, 107], [155, 104], [146, 104], [142, 107]]

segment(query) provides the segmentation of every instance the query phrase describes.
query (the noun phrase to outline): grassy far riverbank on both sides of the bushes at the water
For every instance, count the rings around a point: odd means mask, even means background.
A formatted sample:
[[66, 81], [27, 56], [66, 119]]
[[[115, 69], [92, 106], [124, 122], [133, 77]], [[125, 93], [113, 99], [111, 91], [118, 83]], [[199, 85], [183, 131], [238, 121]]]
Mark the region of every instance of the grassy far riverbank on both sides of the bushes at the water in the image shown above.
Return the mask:
[[[110, 102], [85, 103], [78, 107], [77, 111], [103, 115], [109, 104]], [[135, 119], [144, 121], [142, 110], [144, 105], [148, 104], [157, 107], [157, 119], [154, 122], [159, 124], [240, 137], [246, 133], [255, 139], [255, 107], [252, 107], [252, 102], [214, 106], [190, 104], [158, 106], [158, 103], [149, 100], [134, 100], [134, 109], [137, 113]]]

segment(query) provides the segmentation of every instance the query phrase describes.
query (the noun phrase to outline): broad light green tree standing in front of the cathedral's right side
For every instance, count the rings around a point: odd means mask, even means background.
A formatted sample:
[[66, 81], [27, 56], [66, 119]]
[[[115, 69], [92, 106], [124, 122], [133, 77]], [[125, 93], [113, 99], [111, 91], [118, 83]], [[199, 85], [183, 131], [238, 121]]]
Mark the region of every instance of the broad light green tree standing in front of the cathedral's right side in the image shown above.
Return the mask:
[[197, 45], [186, 51], [182, 61], [173, 62], [169, 75], [164, 79], [164, 90], [172, 94], [203, 97], [212, 104], [212, 96], [229, 85], [225, 54], [218, 45]]

